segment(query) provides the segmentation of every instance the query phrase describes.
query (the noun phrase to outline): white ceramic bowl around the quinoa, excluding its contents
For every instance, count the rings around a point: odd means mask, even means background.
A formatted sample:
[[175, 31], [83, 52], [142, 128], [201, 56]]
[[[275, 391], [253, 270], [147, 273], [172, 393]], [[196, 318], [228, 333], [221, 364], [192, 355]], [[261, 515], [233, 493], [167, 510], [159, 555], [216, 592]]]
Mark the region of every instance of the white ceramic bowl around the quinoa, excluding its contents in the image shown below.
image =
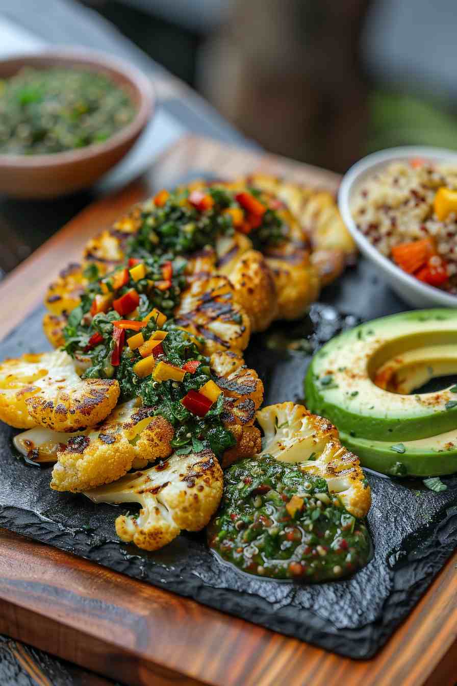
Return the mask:
[[391, 162], [415, 157], [423, 157], [436, 162], [453, 162], [457, 166], [457, 152], [440, 147], [408, 145], [407, 147], [391, 147], [388, 150], [375, 152], [362, 158], [343, 176], [338, 191], [338, 207], [360, 252], [373, 262], [385, 281], [400, 298], [406, 300], [406, 303], [412, 307], [457, 307], [457, 296], [419, 281], [415, 276], [411, 276], [397, 267], [388, 257], [382, 255], [358, 230], [352, 217], [350, 207], [354, 191], [368, 176], [372, 176], [377, 169]]

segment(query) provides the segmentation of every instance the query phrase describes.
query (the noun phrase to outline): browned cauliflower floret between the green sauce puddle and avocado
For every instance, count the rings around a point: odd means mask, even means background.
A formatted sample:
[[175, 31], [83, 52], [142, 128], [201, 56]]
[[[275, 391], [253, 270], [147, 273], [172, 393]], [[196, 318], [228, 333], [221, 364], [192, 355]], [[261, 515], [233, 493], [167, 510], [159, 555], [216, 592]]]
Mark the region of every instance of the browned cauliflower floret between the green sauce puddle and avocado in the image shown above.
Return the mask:
[[300, 463], [306, 473], [323, 477], [354, 517], [365, 517], [371, 505], [370, 488], [358, 457], [341, 445], [336, 427], [294, 403], [269, 405], [256, 418], [264, 431], [261, 455]]

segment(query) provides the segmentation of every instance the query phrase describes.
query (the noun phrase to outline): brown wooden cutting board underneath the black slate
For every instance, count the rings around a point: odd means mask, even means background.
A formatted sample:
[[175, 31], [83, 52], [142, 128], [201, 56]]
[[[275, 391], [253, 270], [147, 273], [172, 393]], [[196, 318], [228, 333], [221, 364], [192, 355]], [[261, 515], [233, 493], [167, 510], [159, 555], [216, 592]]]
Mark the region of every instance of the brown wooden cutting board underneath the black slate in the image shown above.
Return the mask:
[[[5, 279], [2, 337], [40, 303], [62, 265], [79, 259], [86, 240], [134, 202], [190, 172], [253, 171], [331, 191], [339, 181], [277, 156], [182, 139], [147, 177], [77, 215]], [[378, 655], [353, 661], [0, 530], [0, 632], [132, 685], [454, 686], [457, 554]]]

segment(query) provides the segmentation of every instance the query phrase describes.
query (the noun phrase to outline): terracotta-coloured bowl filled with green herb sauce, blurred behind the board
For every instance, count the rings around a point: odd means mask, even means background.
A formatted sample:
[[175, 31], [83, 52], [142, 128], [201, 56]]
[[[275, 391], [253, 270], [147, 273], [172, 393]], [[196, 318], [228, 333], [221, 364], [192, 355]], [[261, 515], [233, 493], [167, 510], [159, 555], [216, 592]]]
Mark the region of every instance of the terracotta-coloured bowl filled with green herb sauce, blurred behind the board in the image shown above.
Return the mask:
[[149, 80], [92, 51], [0, 61], [0, 193], [53, 198], [88, 187], [134, 145]]

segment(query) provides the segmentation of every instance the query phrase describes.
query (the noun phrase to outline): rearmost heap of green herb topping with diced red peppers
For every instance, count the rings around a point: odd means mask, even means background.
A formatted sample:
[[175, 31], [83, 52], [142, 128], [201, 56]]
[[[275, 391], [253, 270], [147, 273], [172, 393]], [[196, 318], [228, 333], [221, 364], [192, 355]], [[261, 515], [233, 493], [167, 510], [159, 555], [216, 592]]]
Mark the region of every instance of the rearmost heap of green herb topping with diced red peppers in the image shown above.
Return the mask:
[[214, 246], [217, 236], [236, 230], [249, 235], [257, 249], [280, 242], [286, 232], [269, 199], [255, 188], [249, 192], [223, 186], [160, 191], [143, 207], [140, 228], [130, 239], [128, 251], [135, 257], [164, 252], [185, 255]]

